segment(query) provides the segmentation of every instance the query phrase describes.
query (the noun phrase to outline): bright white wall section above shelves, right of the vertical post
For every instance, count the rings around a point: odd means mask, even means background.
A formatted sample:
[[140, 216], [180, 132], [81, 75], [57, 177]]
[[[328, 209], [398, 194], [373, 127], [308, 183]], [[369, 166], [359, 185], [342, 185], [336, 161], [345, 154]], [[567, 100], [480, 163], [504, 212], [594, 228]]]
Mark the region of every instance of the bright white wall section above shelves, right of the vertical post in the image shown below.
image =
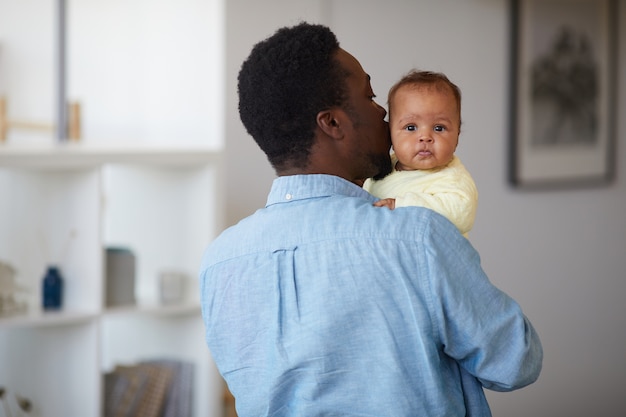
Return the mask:
[[68, 100], [88, 141], [219, 148], [221, 0], [68, 0]]

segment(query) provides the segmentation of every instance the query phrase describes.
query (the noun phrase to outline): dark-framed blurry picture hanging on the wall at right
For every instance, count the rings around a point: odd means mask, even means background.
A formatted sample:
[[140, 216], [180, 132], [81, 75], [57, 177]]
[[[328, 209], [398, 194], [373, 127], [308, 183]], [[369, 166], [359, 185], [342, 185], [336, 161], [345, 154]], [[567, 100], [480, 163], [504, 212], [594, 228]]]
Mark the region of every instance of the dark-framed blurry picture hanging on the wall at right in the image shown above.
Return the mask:
[[516, 187], [614, 176], [617, 1], [511, 1], [509, 180]]

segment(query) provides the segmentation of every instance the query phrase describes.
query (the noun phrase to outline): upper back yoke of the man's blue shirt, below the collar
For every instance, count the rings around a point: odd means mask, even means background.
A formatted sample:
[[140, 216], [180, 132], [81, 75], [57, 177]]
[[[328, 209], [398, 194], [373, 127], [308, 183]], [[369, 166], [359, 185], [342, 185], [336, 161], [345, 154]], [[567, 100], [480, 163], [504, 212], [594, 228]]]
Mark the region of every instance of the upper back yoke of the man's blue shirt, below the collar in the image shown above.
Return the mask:
[[278, 247], [341, 239], [422, 244], [433, 230], [452, 233], [448, 229], [456, 231], [444, 217], [423, 207], [389, 210], [361, 198], [333, 196], [260, 209], [224, 230], [209, 245], [205, 258], [220, 262]]

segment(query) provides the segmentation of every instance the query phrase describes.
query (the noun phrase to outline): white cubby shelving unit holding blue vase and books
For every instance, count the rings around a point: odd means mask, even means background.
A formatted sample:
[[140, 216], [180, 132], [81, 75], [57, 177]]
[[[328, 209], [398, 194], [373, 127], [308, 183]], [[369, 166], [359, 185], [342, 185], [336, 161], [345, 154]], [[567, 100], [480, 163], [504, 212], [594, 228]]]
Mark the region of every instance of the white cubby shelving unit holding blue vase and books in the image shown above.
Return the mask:
[[[0, 386], [28, 397], [33, 416], [99, 416], [105, 372], [162, 358], [194, 363], [194, 415], [219, 415], [196, 277], [221, 226], [220, 163], [207, 148], [0, 147], [0, 260], [28, 289], [27, 313], [0, 318]], [[135, 307], [106, 308], [108, 246], [136, 256]], [[63, 308], [43, 312], [51, 263]], [[157, 276], [172, 269], [189, 276], [187, 297], [160, 306]]]

